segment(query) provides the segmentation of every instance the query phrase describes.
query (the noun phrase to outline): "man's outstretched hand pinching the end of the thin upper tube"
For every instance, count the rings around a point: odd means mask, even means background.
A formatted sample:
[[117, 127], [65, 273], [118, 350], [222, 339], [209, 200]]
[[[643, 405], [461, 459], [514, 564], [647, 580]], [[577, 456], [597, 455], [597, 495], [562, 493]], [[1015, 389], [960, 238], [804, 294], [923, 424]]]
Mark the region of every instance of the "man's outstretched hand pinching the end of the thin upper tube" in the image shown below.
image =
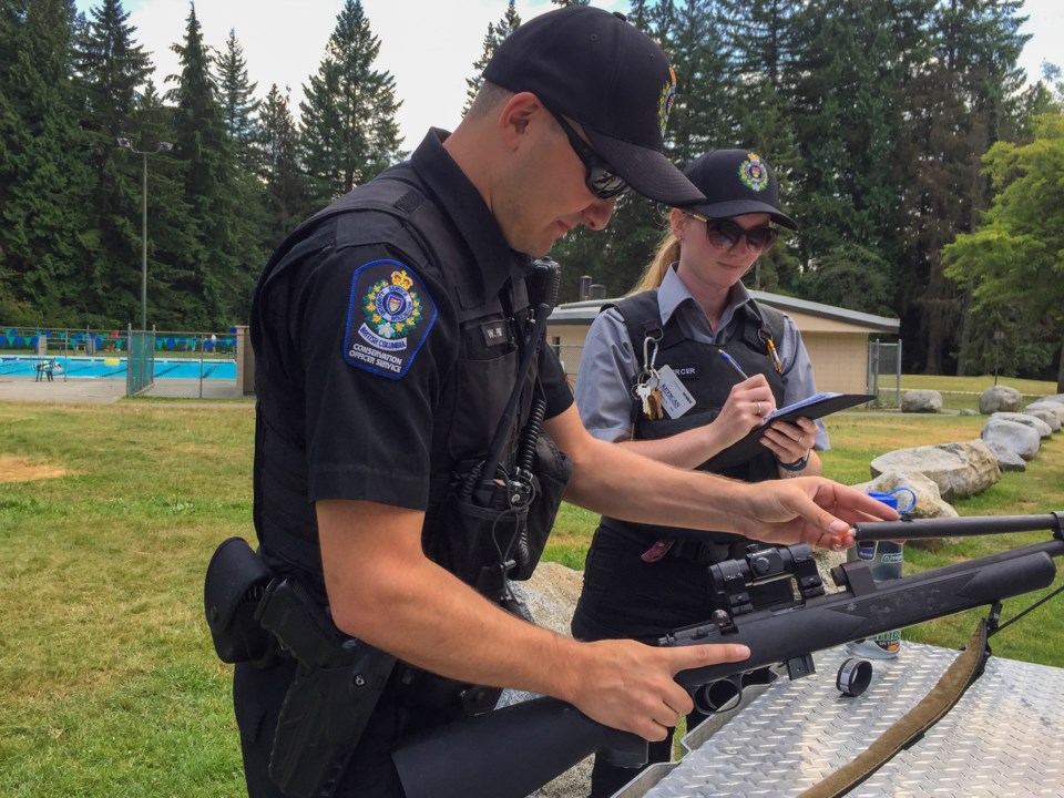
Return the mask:
[[898, 511], [861, 491], [820, 477], [739, 484], [749, 518], [743, 534], [766, 543], [819, 549], [853, 545], [850, 529], [864, 521], [897, 521]]

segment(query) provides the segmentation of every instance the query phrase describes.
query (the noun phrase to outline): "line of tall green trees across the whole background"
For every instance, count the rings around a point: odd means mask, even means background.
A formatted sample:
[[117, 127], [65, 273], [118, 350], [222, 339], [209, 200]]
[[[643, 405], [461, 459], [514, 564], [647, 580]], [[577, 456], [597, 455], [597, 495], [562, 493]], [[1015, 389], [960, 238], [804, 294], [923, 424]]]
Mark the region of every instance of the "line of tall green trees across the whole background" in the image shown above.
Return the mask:
[[[900, 318], [906, 370], [1062, 368], [1064, 81], [1046, 64], [1026, 85], [1020, 0], [632, 0], [628, 19], [676, 68], [668, 155], [743, 146], [776, 167], [801, 231], [750, 287]], [[520, 24], [511, 0], [470, 54], [469, 98]], [[299, 221], [407, 154], [358, 0], [295, 110], [249, 81], [235, 31], [204, 44], [194, 6], [162, 84], [120, 0], [0, 0], [7, 324], [139, 318], [145, 163], [149, 323], [226, 328]], [[663, 219], [628, 193], [605, 233], [566, 236], [562, 299], [585, 274], [626, 291]]]

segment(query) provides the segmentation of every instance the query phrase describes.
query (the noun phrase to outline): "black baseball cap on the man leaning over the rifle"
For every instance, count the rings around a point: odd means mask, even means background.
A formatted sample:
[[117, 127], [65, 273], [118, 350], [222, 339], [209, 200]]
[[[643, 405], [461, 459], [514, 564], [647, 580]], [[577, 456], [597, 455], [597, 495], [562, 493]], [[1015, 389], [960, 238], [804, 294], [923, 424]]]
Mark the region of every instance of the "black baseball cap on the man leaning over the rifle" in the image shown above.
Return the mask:
[[705, 200], [663, 153], [676, 74], [623, 14], [590, 6], [541, 14], [503, 40], [484, 80], [532, 92], [579, 122], [595, 152], [640, 194], [667, 205]]

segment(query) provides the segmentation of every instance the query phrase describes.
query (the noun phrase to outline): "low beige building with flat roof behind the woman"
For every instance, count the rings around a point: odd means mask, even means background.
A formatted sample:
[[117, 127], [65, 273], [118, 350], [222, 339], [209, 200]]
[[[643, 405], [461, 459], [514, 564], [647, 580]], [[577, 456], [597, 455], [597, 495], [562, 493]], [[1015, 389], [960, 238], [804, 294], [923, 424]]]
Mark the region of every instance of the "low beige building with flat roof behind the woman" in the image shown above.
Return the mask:
[[[817, 389], [863, 393], [868, 389], [868, 342], [876, 335], [897, 336], [899, 321], [884, 316], [847, 310], [807, 299], [750, 291], [755, 299], [790, 316], [809, 350], [817, 375]], [[585, 299], [554, 308], [546, 324], [546, 340], [570, 379], [580, 370], [580, 356], [587, 328], [608, 299]]]

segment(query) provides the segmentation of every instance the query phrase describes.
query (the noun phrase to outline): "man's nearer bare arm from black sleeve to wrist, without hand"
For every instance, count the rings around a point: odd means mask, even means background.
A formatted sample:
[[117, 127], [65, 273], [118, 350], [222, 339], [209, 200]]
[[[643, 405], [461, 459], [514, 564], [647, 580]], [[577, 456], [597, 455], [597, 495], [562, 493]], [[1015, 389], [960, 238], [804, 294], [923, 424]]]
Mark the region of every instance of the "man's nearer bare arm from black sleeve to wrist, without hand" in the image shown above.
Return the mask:
[[[336, 625], [400, 659], [460, 682], [573, 699], [576, 642], [518, 618], [428, 560], [423, 514], [371, 502], [318, 502]], [[456, 530], [440, 530], [440, 534]], [[586, 668], [584, 668], [586, 669]]]

